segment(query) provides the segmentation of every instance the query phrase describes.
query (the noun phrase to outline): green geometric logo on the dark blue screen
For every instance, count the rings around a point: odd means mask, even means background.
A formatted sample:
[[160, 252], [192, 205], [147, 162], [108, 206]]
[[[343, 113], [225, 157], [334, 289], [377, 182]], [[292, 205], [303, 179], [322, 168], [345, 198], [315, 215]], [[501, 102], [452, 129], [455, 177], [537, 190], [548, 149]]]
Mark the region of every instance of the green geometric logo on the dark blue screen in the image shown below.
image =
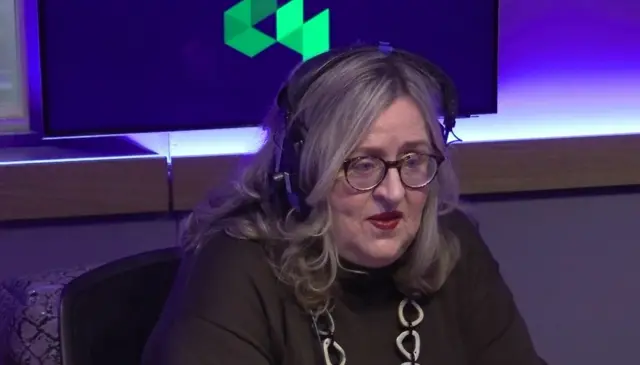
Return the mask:
[[[275, 38], [255, 25], [275, 14]], [[303, 60], [329, 50], [329, 9], [304, 21], [304, 0], [278, 7], [277, 0], [242, 0], [224, 12], [224, 43], [254, 57], [280, 43], [299, 53]]]

